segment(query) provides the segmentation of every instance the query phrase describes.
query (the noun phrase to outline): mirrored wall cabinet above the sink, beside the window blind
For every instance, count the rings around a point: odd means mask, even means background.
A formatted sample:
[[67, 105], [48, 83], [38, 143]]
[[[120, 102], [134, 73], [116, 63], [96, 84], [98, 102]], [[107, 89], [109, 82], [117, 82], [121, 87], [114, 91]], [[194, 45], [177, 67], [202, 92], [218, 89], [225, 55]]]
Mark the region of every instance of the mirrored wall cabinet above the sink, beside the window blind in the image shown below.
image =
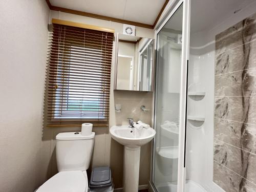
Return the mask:
[[115, 90], [153, 91], [154, 40], [117, 34]]

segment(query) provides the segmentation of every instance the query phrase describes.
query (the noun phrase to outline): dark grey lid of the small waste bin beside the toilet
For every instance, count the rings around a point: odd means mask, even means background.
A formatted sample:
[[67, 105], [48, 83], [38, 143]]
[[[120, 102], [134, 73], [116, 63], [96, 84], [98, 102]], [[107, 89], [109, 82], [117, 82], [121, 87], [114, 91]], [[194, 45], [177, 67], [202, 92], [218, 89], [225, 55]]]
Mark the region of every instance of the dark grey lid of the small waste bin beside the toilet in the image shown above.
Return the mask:
[[90, 188], [103, 188], [112, 185], [110, 167], [94, 167], [90, 179]]

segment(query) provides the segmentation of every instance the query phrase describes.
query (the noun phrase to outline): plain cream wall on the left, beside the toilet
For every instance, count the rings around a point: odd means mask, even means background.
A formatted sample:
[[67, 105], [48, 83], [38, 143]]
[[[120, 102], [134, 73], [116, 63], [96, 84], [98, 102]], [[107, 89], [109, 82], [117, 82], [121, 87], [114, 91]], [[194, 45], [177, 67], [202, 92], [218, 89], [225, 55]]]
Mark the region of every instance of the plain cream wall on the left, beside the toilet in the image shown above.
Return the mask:
[[0, 1], [0, 191], [29, 192], [40, 172], [49, 8]]

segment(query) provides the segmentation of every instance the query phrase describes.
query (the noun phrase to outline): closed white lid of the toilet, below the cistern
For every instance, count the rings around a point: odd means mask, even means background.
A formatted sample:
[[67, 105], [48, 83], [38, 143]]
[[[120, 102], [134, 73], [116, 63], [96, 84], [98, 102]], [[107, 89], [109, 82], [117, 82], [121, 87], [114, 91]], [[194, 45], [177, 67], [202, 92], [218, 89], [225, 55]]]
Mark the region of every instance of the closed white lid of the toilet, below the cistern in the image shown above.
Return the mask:
[[36, 192], [85, 192], [87, 188], [86, 173], [76, 170], [57, 173], [42, 184]]

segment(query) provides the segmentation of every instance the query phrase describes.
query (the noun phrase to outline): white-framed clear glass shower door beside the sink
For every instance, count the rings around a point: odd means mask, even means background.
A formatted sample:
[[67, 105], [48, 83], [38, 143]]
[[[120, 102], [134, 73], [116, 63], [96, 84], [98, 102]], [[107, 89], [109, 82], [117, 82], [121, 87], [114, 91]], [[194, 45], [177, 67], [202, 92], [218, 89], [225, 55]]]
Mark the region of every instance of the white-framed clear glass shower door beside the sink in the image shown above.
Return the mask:
[[[158, 192], [183, 191], [186, 118], [187, 33], [185, 3], [157, 33], [152, 183]], [[184, 38], [184, 41], [182, 38]]]

